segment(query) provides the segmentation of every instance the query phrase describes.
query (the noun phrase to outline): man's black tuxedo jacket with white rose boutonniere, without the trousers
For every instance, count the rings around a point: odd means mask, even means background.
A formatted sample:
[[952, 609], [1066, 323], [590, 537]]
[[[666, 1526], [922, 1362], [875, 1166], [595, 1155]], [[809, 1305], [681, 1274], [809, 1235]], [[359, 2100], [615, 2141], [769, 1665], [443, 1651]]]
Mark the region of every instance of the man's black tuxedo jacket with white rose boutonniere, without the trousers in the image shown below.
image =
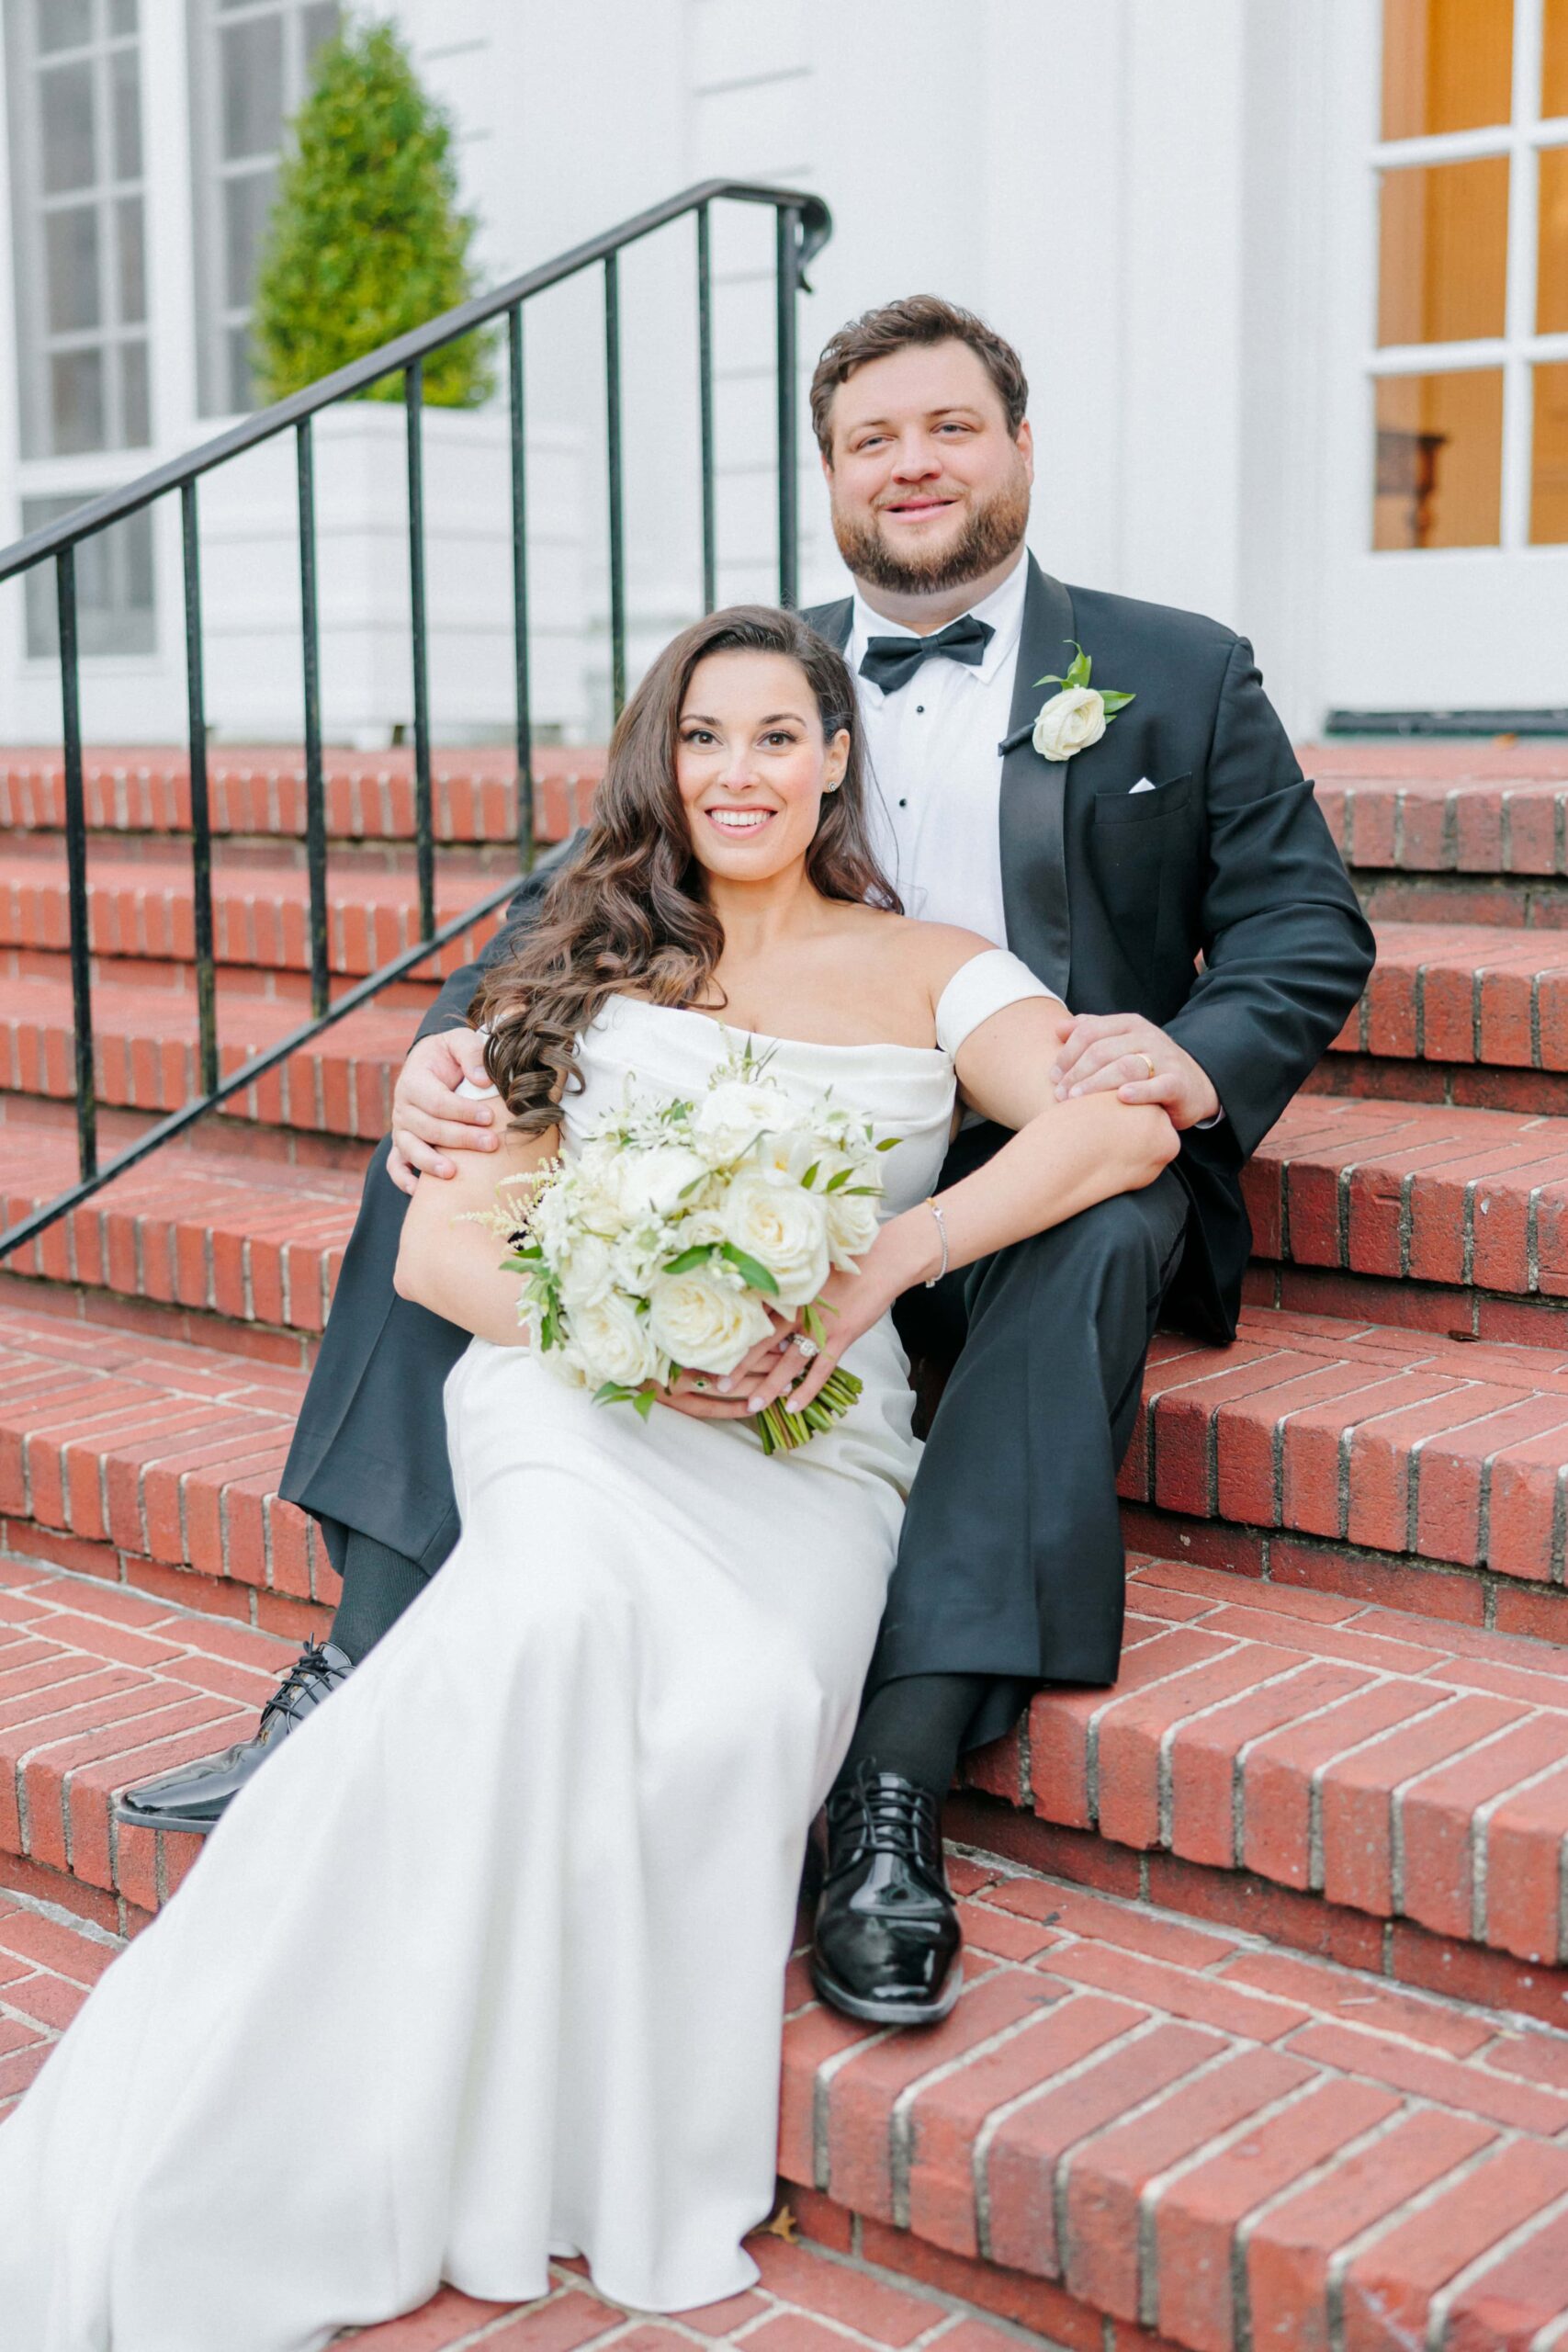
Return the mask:
[[[844, 652], [851, 600], [806, 621]], [[1056, 691], [1041, 680], [1065, 673], [1074, 644], [1103, 687], [1135, 701], [1088, 750], [1044, 760], [1027, 729]], [[1218, 1089], [1225, 1117], [1190, 1129], [1175, 1162], [1190, 1211], [1166, 1317], [1234, 1338], [1251, 1249], [1241, 1164], [1345, 1025], [1373, 934], [1253, 649], [1218, 621], [1067, 588], [1030, 557], [1006, 741], [1006, 946], [1074, 1014], [1145, 1014]], [[1140, 781], [1154, 790], [1135, 793]], [[421, 1037], [465, 1018], [541, 889], [538, 875], [524, 882]]]

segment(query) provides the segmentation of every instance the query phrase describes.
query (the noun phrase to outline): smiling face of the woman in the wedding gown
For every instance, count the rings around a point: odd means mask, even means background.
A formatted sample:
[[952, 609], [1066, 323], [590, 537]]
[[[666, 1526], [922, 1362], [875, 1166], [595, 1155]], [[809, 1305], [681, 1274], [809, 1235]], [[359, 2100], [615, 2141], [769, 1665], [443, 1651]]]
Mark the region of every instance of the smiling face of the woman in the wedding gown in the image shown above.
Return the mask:
[[698, 863], [769, 882], [811, 847], [823, 793], [844, 781], [849, 734], [823, 739], [811, 682], [788, 654], [708, 654], [682, 703], [679, 786]]

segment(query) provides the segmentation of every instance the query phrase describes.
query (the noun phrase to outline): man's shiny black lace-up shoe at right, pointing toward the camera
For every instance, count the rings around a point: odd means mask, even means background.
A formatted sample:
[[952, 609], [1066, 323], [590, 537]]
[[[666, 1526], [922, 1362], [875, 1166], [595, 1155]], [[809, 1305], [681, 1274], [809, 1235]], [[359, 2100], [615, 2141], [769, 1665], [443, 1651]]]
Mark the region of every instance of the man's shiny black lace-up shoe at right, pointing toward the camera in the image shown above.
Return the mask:
[[827, 1799], [816, 1990], [849, 2018], [936, 2025], [964, 1987], [961, 1940], [936, 1797], [863, 1764]]

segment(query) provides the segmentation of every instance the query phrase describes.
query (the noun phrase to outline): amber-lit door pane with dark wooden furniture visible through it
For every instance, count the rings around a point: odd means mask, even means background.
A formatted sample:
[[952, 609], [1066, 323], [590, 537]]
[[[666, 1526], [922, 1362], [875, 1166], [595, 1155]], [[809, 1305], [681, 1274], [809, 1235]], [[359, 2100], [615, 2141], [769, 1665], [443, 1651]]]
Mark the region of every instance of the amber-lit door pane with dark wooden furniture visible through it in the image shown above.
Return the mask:
[[1502, 369], [1378, 379], [1375, 548], [1495, 548]]

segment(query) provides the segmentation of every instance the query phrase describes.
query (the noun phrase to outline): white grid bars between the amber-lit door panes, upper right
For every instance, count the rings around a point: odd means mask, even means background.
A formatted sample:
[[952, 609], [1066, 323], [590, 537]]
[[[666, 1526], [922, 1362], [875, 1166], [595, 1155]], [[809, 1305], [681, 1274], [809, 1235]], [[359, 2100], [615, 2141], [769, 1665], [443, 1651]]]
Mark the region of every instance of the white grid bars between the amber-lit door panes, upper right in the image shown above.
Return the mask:
[[[1500, 539], [1486, 546], [1530, 548], [1559, 541], [1530, 539], [1530, 468], [1535, 437], [1533, 369], [1568, 360], [1568, 334], [1535, 334], [1535, 270], [1540, 223], [1540, 153], [1568, 146], [1568, 115], [1540, 113], [1540, 61], [1544, 35], [1544, 0], [1514, 0], [1514, 89], [1512, 120], [1474, 132], [1429, 132], [1420, 139], [1380, 139], [1371, 151], [1373, 214], [1378, 214], [1382, 174], [1434, 162], [1479, 162], [1488, 155], [1509, 158], [1507, 216], [1507, 301], [1500, 336], [1469, 343], [1385, 343], [1366, 353], [1373, 388], [1380, 376], [1439, 376], [1481, 367], [1502, 369], [1502, 508]], [[1378, 254], [1373, 226], [1373, 252]], [[1373, 327], [1375, 332], [1375, 327]], [[1366, 506], [1368, 553], [1436, 555], [1443, 548], [1373, 548], [1373, 501]]]

